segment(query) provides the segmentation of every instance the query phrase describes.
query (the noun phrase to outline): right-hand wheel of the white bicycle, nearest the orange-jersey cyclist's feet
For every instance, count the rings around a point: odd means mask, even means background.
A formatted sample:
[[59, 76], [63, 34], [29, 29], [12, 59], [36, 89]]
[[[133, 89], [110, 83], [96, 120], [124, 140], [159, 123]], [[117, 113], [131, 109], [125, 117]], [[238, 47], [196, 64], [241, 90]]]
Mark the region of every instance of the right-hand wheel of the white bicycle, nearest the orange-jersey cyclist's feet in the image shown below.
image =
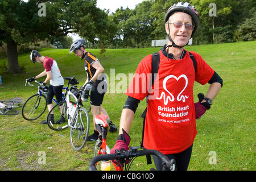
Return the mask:
[[71, 144], [75, 151], [84, 147], [89, 133], [89, 114], [84, 108], [77, 109], [70, 131]]

